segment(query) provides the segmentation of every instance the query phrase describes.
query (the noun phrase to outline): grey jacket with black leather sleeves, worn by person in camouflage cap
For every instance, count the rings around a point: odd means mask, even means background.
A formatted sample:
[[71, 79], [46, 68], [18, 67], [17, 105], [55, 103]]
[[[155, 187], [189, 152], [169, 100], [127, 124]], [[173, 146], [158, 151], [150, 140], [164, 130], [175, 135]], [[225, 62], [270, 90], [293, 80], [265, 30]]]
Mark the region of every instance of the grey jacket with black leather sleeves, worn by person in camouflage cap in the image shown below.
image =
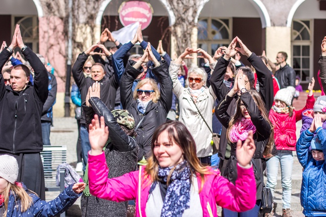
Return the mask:
[[[86, 125], [89, 126], [96, 113], [99, 116], [104, 116], [105, 124], [109, 127], [111, 143], [105, 150], [105, 158], [109, 168], [108, 178], [119, 177], [134, 171], [138, 156], [136, 140], [122, 130], [111, 111], [99, 98], [91, 97], [89, 102], [91, 107], [87, 107], [85, 102], [82, 104]], [[83, 217], [126, 217], [127, 205], [127, 201], [114, 202], [94, 196], [85, 197], [84, 195], [81, 198]]]

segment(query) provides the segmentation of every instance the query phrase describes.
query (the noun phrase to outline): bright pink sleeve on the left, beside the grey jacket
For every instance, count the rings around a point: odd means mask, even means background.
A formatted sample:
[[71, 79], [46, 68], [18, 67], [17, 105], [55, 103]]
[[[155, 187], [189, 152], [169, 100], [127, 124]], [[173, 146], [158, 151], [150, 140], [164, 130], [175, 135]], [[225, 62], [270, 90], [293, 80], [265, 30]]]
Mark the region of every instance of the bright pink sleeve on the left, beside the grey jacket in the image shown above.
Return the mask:
[[88, 155], [88, 175], [91, 195], [116, 202], [136, 199], [138, 171], [108, 179], [109, 169], [104, 152]]

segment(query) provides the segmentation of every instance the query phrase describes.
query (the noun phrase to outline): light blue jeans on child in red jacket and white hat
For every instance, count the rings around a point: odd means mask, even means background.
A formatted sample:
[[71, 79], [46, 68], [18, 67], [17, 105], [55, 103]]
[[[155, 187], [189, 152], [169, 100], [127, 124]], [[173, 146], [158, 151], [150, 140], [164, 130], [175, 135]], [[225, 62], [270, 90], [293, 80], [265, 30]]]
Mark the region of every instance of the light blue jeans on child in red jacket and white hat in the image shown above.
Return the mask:
[[266, 162], [267, 164], [267, 183], [266, 187], [270, 188], [274, 196], [274, 190], [277, 183], [278, 164], [281, 164], [282, 173], [282, 202], [283, 209], [291, 207], [291, 192], [292, 192], [292, 167], [293, 154], [292, 151], [278, 150], [278, 154]]

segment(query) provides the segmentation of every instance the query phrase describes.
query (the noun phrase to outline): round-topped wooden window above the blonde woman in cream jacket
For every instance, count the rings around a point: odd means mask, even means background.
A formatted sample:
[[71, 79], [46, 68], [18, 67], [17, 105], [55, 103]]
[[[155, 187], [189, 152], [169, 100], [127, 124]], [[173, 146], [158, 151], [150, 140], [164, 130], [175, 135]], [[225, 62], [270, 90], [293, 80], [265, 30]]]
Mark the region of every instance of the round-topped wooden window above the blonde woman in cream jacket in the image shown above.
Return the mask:
[[214, 55], [217, 48], [232, 41], [230, 18], [201, 18], [198, 21], [198, 47]]

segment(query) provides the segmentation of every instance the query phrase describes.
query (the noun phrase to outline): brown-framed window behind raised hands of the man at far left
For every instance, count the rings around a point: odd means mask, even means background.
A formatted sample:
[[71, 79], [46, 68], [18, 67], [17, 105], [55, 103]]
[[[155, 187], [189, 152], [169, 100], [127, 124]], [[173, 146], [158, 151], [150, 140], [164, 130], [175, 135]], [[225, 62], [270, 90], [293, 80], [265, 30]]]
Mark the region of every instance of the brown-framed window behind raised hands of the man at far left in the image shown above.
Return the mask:
[[[16, 24], [20, 25], [20, 32], [24, 44], [38, 53], [38, 18], [37, 16], [12, 17], [12, 34], [15, 32]], [[20, 49], [16, 48], [17, 51]], [[16, 51], [15, 50], [15, 51]], [[17, 52], [16, 51], [16, 52]]]

